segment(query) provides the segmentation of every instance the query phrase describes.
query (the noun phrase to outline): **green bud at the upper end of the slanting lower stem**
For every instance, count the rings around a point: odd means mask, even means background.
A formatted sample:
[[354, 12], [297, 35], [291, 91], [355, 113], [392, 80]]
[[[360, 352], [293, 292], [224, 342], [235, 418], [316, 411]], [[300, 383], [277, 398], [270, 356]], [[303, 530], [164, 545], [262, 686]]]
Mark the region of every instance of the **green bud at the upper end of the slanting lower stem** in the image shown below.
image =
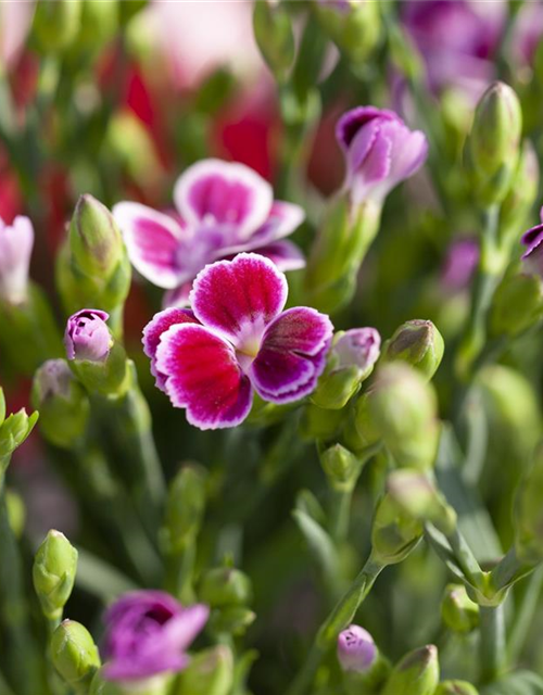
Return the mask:
[[422, 538], [422, 525], [386, 494], [371, 526], [371, 555], [380, 565], [395, 565], [409, 555]]

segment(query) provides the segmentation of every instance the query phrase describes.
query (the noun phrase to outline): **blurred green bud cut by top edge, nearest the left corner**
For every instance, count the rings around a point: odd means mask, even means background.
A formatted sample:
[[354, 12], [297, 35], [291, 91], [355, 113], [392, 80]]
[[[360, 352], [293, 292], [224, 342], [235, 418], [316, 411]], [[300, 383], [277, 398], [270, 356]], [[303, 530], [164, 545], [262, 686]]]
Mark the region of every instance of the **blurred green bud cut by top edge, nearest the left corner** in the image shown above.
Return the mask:
[[81, 0], [40, 0], [36, 3], [33, 38], [42, 53], [70, 48], [81, 24]]

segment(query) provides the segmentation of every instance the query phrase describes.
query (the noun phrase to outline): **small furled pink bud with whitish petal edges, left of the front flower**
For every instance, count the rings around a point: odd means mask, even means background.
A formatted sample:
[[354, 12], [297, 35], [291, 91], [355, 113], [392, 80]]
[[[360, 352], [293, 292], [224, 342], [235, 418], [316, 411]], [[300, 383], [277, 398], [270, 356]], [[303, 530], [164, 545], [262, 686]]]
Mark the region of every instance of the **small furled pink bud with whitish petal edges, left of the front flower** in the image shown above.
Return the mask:
[[109, 314], [98, 308], [83, 308], [71, 316], [64, 332], [67, 358], [103, 362], [113, 343], [105, 325], [109, 318]]

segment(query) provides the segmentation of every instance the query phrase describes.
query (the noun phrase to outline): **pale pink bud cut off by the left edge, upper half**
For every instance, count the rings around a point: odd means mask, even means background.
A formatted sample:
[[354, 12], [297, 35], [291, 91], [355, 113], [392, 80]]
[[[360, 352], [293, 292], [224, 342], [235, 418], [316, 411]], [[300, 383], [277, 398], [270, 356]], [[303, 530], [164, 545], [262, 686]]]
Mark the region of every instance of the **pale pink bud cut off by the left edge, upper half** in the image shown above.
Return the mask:
[[34, 247], [34, 228], [28, 217], [15, 217], [7, 225], [0, 217], [0, 298], [10, 304], [24, 302]]

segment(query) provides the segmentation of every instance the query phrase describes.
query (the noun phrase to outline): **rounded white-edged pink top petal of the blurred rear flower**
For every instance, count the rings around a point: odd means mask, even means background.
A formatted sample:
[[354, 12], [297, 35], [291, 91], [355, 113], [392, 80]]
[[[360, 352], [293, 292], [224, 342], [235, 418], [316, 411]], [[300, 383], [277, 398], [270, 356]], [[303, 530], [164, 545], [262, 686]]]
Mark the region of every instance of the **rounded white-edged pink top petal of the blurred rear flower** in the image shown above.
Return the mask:
[[174, 200], [189, 223], [228, 225], [237, 238], [247, 239], [266, 220], [273, 192], [269, 184], [244, 164], [203, 160], [179, 177]]

